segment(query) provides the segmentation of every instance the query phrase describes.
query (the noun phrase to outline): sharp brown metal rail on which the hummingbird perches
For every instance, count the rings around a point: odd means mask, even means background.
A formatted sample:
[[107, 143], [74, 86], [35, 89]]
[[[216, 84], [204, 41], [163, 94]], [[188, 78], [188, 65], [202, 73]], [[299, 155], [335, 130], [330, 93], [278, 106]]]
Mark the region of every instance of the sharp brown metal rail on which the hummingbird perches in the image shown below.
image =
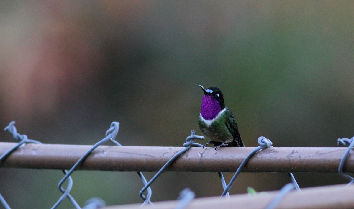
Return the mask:
[[[0, 142], [0, 155], [17, 143]], [[4, 159], [8, 168], [70, 169], [90, 145], [25, 144]], [[158, 171], [183, 147], [99, 146], [77, 170]], [[165, 171], [235, 172], [254, 147], [205, 149], [191, 147]], [[345, 147], [269, 147], [257, 152], [242, 172], [336, 173]], [[343, 165], [354, 173], [354, 155]]]

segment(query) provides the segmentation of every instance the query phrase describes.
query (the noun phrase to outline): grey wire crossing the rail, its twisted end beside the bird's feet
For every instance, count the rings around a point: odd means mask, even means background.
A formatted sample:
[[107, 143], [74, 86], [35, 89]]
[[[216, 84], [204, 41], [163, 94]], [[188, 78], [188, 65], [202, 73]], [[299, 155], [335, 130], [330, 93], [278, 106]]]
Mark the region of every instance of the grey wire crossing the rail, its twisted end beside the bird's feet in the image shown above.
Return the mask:
[[204, 136], [195, 136], [194, 135], [194, 131], [190, 131], [190, 136], [187, 137], [187, 139], [185, 140], [186, 142], [183, 144], [184, 148], [181, 149], [179, 152], [177, 152], [171, 159], [169, 159], [167, 161], [167, 163], [162, 166], [162, 168], [155, 174], [154, 177], [152, 177], [152, 179], [145, 184], [145, 186], [141, 189], [141, 191], [139, 192], [140, 197], [144, 200], [144, 203], [142, 204], [145, 205], [150, 201], [150, 197], [145, 197], [144, 196], [144, 192], [147, 190], [147, 188], [165, 171], [165, 169], [170, 166], [179, 156], [181, 156], [183, 153], [187, 152], [187, 150], [190, 148], [191, 145], [199, 145], [199, 144], [195, 144], [194, 143], [194, 139], [200, 139], [203, 140]]

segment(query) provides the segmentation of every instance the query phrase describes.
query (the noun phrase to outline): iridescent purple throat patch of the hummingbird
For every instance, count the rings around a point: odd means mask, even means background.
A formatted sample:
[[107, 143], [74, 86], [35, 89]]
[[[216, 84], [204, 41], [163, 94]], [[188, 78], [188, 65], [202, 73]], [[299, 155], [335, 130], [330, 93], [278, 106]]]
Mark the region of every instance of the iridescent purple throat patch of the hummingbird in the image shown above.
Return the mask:
[[219, 102], [212, 96], [204, 94], [201, 101], [200, 114], [205, 120], [212, 120], [221, 111]]

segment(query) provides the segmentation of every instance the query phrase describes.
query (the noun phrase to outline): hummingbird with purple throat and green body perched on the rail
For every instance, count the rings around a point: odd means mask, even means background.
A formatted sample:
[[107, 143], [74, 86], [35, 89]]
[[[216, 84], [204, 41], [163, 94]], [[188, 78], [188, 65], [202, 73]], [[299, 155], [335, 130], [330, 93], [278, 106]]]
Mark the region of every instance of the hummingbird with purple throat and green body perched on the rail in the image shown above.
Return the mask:
[[198, 126], [201, 132], [210, 139], [215, 149], [221, 146], [228, 147], [244, 147], [241, 136], [237, 127], [234, 113], [225, 107], [224, 97], [217, 87], [204, 89], [201, 102]]

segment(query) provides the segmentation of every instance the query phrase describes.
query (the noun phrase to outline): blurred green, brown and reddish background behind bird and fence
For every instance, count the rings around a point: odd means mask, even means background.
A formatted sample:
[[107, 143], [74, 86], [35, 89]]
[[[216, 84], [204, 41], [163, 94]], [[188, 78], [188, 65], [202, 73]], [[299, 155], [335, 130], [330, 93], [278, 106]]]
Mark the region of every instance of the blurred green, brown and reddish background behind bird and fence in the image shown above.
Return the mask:
[[[201, 135], [200, 84], [221, 88], [246, 146], [265, 136], [279, 147], [337, 147], [354, 135], [353, 9], [353, 1], [2, 1], [0, 127], [15, 120], [29, 139], [93, 145], [119, 121], [122, 145], [182, 146], [190, 130]], [[347, 182], [294, 175], [300, 187]], [[0, 168], [0, 193], [12, 208], [50, 208], [62, 177]], [[135, 172], [72, 177], [81, 206], [95, 196], [142, 202]], [[286, 173], [242, 173], [230, 193], [287, 182]], [[185, 187], [222, 193], [217, 173], [166, 172], [152, 200]], [[59, 208], [72, 207], [65, 199]]]

